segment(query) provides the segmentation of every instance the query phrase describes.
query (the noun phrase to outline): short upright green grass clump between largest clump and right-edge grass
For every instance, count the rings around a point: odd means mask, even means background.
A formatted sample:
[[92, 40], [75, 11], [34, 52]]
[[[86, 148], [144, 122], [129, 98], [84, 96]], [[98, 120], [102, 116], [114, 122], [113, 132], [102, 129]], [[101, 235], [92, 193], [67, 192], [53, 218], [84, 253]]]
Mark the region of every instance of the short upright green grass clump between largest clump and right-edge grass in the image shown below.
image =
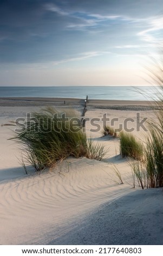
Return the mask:
[[142, 160], [143, 146], [131, 133], [120, 133], [120, 154], [136, 160]]

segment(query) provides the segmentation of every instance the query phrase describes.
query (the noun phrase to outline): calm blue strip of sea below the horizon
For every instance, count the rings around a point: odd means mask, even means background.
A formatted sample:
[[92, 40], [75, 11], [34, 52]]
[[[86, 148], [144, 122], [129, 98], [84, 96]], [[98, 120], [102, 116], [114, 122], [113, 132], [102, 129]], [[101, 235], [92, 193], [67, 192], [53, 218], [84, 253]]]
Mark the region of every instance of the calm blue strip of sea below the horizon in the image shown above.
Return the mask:
[[157, 99], [159, 87], [153, 86], [56, 86], [0, 87], [0, 97], [74, 97], [101, 100]]

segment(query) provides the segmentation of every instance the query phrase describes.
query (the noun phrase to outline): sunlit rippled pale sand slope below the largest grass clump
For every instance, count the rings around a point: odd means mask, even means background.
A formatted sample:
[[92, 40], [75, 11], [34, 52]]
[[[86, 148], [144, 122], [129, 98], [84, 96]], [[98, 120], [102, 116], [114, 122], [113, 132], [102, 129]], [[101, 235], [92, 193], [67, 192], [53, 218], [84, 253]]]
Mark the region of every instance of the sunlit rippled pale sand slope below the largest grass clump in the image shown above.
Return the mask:
[[[45, 243], [49, 233], [48, 242], [58, 236], [54, 230], [60, 229], [60, 224], [82, 218], [100, 204], [131, 191], [130, 184], [118, 184], [111, 166], [95, 160], [68, 159], [53, 172], [2, 180], [1, 243]], [[122, 166], [128, 168], [126, 163]], [[125, 180], [130, 179], [130, 174], [128, 168]]]

